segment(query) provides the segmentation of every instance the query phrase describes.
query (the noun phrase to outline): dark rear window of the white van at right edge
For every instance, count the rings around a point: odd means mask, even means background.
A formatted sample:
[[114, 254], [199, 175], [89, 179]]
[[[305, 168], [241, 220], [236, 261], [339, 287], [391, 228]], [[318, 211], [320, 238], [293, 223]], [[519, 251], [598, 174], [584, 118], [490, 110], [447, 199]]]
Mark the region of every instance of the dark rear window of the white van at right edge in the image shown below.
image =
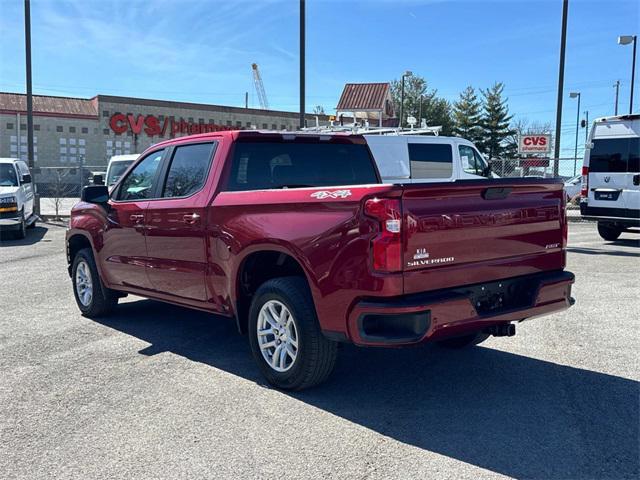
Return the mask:
[[589, 172], [639, 173], [640, 139], [603, 138], [593, 141]]

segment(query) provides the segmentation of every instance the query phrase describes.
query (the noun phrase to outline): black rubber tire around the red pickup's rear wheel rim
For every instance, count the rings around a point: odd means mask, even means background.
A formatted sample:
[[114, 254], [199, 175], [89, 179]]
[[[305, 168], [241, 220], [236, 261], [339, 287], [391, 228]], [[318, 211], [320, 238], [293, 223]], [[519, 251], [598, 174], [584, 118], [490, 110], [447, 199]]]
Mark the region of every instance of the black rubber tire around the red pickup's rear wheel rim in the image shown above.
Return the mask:
[[[291, 313], [297, 331], [297, 353], [289, 370], [276, 371], [262, 354], [258, 343], [258, 315], [275, 300]], [[249, 309], [249, 343], [258, 368], [267, 381], [282, 390], [303, 390], [324, 382], [336, 363], [337, 344], [320, 331], [311, 292], [304, 278], [280, 277], [263, 283]]]

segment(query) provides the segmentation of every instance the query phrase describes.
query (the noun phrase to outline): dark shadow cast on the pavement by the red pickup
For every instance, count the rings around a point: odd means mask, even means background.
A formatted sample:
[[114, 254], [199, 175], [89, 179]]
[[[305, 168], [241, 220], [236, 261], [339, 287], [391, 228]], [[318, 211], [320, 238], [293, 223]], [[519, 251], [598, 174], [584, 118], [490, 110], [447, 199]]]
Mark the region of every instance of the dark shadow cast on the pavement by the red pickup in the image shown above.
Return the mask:
[[[101, 324], [264, 384], [234, 322], [150, 300]], [[508, 341], [508, 340], [504, 340]], [[344, 346], [326, 384], [291, 397], [382, 435], [512, 477], [635, 478], [639, 383], [475, 347]]]

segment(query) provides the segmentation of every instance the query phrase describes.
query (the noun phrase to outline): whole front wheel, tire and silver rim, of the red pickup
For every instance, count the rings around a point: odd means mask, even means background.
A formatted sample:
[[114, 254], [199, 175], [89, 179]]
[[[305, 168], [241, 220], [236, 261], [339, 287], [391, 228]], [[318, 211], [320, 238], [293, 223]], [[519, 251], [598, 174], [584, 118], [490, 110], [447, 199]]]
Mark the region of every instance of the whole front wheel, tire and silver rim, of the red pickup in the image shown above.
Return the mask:
[[118, 305], [117, 292], [105, 287], [100, 280], [90, 248], [83, 248], [76, 254], [71, 279], [73, 294], [83, 315], [101, 317], [111, 313]]

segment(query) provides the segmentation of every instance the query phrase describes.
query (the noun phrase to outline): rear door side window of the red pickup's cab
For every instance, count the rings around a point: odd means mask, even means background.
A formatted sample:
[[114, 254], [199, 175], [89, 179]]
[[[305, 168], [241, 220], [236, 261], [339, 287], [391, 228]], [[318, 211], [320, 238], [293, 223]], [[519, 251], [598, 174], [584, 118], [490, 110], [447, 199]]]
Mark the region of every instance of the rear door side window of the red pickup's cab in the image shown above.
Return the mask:
[[176, 147], [162, 196], [186, 197], [200, 190], [209, 172], [213, 149], [213, 143]]

